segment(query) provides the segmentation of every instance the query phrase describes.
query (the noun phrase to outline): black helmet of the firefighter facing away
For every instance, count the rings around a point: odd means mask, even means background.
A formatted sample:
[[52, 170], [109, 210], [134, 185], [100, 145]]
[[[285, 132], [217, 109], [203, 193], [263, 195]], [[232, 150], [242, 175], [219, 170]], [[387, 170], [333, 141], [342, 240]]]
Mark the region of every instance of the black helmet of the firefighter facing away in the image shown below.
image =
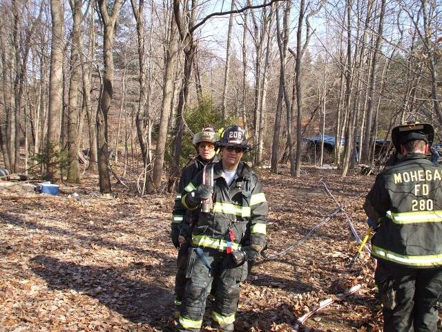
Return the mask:
[[392, 129], [392, 142], [397, 151], [401, 151], [401, 144], [410, 140], [424, 140], [431, 146], [433, 138], [434, 128], [429, 123], [410, 121]]

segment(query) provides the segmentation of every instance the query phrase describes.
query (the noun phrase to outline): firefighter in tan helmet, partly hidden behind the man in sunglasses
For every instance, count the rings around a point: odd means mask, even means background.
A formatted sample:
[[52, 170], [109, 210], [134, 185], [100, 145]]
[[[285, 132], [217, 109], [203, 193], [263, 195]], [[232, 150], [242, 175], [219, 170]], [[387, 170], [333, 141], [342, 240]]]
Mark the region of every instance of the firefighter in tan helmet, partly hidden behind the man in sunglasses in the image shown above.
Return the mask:
[[[186, 210], [181, 203], [181, 195], [184, 187], [192, 181], [192, 178], [202, 170], [204, 165], [217, 163], [215, 143], [220, 136], [211, 127], [203, 128], [200, 133], [193, 136], [192, 143], [195, 146], [198, 156], [191, 165], [182, 172], [180, 182], [177, 187], [177, 196], [172, 212], [171, 239], [173, 246], [179, 248], [177, 257], [177, 274], [175, 276], [175, 306], [180, 306], [184, 289], [186, 288], [186, 264], [191, 246], [191, 232], [193, 225], [198, 220], [198, 210]], [[180, 243], [180, 235], [184, 242]]]

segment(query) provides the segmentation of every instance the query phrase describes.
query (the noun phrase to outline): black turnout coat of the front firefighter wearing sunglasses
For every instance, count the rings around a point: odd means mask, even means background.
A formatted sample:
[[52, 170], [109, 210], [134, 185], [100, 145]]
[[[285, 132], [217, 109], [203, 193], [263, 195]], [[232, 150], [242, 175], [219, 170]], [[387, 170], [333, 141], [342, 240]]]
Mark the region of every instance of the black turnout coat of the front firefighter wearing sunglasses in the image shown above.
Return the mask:
[[[203, 183], [203, 172], [184, 188], [182, 203], [189, 210], [200, 208], [186, 206], [185, 196]], [[262, 184], [251, 168], [240, 162], [238, 172], [230, 186], [224, 178], [222, 160], [213, 164], [213, 205], [209, 212], [200, 212], [192, 232], [193, 246], [226, 251], [241, 246], [265, 245], [267, 201]], [[233, 237], [231, 236], [233, 234]]]

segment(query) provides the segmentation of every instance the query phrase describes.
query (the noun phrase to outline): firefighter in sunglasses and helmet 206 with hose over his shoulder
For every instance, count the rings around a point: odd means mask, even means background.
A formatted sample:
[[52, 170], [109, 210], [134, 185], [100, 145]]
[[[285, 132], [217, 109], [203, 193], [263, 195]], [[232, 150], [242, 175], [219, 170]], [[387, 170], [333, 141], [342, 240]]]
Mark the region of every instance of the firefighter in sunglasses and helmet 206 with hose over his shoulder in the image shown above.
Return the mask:
[[200, 331], [213, 275], [219, 277], [211, 327], [233, 331], [240, 282], [265, 246], [267, 201], [258, 176], [241, 161], [250, 149], [246, 131], [227, 127], [218, 147], [222, 159], [204, 167], [182, 194], [186, 208], [201, 212], [192, 232], [179, 331]]

